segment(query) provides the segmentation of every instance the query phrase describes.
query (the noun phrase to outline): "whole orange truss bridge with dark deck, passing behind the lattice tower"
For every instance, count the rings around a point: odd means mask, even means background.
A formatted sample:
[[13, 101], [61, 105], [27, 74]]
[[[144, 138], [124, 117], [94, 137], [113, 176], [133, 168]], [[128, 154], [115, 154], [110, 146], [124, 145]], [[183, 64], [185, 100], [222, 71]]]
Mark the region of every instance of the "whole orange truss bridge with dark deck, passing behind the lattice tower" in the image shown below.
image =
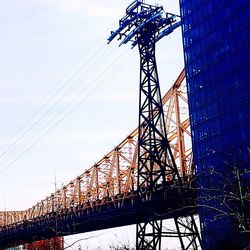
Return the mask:
[[[194, 169], [184, 70], [163, 96], [162, 103], [175, 162], [188, 184]], [[135, 129], [94, 166], [33, 207], [0, 212], [0, 246], [136, 224], [154, 216], [154, 212], [162, 213], [164, 219], [196, 214], [189, 186], [182, 199], [174, 188], [165, 191], [159, 188], [159, 197], [163, 195], [164, 202], [153, 207], [147, 197], [139, 202], [137, 137]], [[145, 205], [145, 214], [139, 212], [141, 204]], [[150, 215], [146, 207], [150, 208]]]

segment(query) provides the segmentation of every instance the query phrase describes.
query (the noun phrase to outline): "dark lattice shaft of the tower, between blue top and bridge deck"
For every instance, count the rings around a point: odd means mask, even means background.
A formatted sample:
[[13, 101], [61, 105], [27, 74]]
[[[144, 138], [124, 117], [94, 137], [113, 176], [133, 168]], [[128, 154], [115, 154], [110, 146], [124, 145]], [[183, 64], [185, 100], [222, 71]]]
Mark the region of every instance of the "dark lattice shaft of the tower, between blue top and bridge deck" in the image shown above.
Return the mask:
[[164, 111], [155, 58], [155, 26], [145, 27], [138, 37], [140, 54], [140, 97], [138, 136], [138, 181], [140, 196], [151, 196], [166, 181], [180, 175], [167, 140]]

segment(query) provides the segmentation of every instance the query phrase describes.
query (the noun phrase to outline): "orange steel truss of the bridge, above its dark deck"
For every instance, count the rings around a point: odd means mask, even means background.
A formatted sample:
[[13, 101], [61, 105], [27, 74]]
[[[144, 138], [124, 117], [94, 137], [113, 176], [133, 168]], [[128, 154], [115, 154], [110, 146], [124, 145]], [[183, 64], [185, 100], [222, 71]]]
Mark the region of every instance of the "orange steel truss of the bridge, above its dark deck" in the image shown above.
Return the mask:
[[[162, 99], [168, 140], [180, 176], [188, 181], [193, 176], [191, 133], [184, 70]], [[53, 212], [74, 209], [78, 205], [124, 200], [137, 187], [137, 134], [135, 129], [112, 151], [63, 188], [25, 211], [0, 212], [0, 227], [18, 224]]]

